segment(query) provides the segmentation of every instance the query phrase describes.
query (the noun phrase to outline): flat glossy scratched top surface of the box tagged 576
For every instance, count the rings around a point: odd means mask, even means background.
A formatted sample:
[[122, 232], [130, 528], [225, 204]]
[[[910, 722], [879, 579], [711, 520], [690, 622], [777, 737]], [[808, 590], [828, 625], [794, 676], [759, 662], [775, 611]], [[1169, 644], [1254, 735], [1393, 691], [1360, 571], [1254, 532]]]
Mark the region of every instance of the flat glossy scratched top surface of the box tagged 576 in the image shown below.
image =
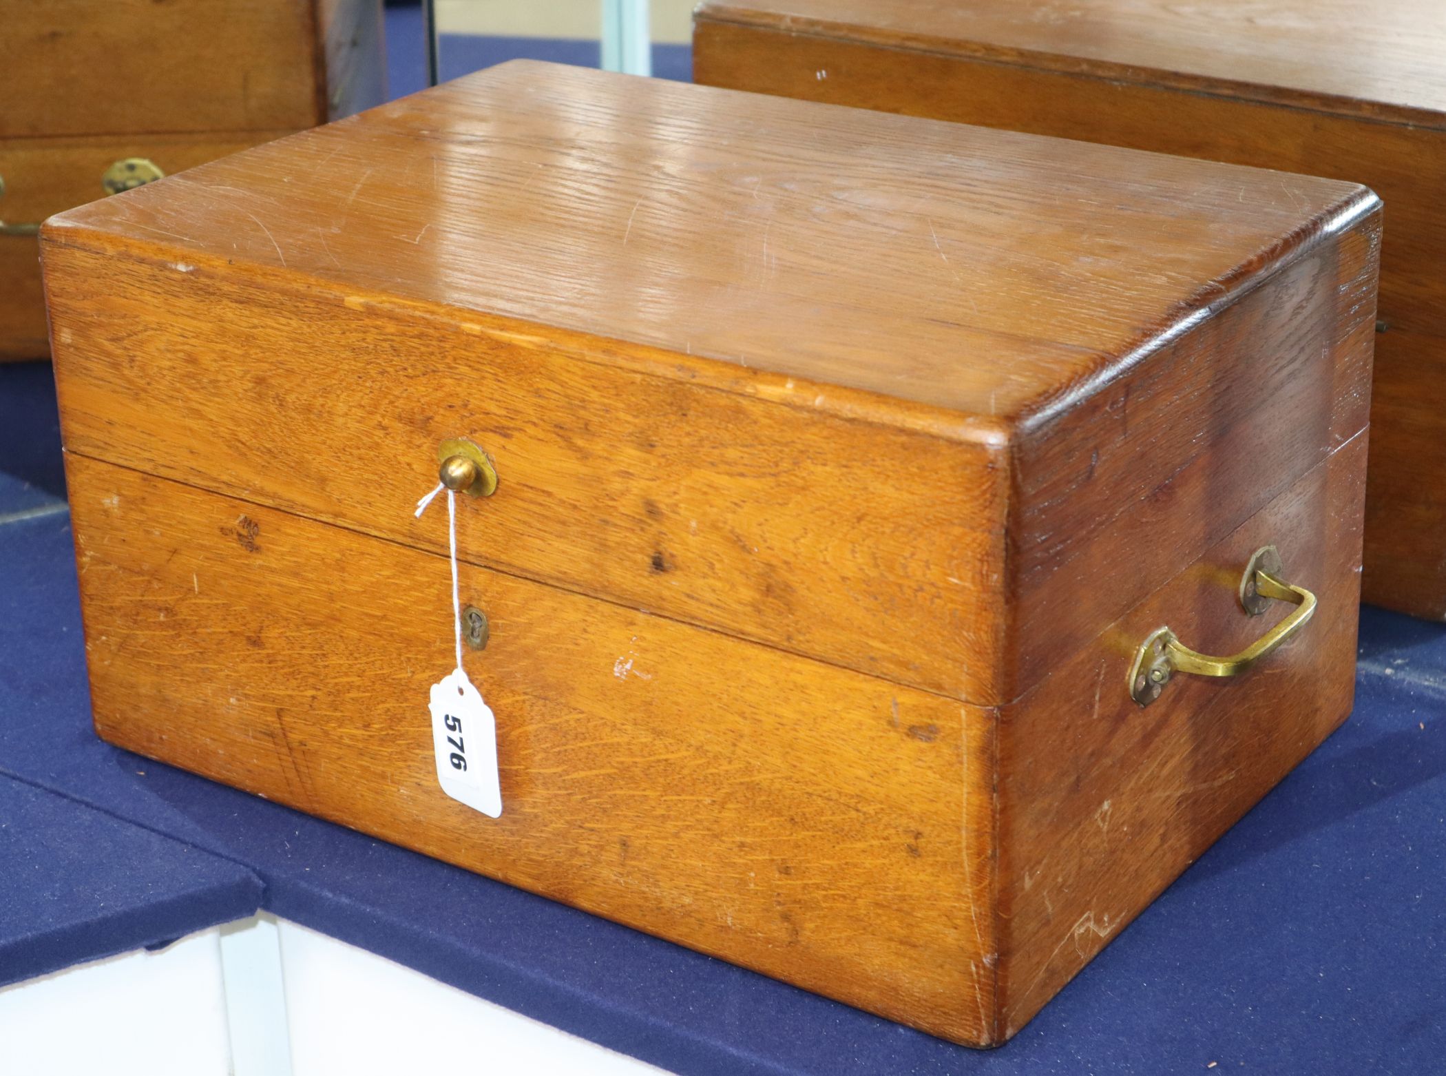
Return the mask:
[[863, 389], [989, 437], [1371, 202], [1333, 181], [516, 61], [52, 229]]

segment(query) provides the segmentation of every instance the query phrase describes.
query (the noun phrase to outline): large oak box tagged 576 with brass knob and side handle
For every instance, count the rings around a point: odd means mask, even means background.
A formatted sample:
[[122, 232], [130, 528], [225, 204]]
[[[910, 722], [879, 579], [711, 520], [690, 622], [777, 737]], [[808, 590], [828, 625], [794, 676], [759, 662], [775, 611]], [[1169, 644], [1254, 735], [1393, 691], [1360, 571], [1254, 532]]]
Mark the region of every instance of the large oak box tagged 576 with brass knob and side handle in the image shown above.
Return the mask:
[[[1351, 709], [1378, 237], [1333, 181], [523, 62], [74, 210], [97, 729], [999, 1043]], [[428, 719], [457, 437], [499, 819]], [[1304, 626], [1241, 606], [1271, 545]], [[1141, 706], [1163, 626], [1296, 638]]]

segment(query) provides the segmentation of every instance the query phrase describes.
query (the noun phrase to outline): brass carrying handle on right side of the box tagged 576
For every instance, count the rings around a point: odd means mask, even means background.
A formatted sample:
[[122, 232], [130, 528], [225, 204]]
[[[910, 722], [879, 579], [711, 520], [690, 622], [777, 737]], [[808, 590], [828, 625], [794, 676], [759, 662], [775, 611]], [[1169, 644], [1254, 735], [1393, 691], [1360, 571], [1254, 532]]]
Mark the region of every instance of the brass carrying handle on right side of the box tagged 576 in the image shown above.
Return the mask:
[[1160, 697], [1164, 686], [1176, 672], [1193, 672], [1197, 677], [1238, 677], [1257, 661], [1275, 652], [1293, 639], [1306, 622], [1316, 615], [1316, 596], [1304, 587], [1296, 587], [1281, 578], [1280, 552], [1274, 545], [1255, 551], [1245, 574], [1241, 577], [1241, 606], [1249, 616], [1259, 616], [1271, 602], [1290, 602], [1296, 612], [1271, 628], [1239, 654], [1228, 658], [1212, 658], [1186, 646], [1168, 628], [1160, 628], [1139, 644], [1135, 661], [1129, 667], [1129, 697], [1141, 706], [1150, 706]]

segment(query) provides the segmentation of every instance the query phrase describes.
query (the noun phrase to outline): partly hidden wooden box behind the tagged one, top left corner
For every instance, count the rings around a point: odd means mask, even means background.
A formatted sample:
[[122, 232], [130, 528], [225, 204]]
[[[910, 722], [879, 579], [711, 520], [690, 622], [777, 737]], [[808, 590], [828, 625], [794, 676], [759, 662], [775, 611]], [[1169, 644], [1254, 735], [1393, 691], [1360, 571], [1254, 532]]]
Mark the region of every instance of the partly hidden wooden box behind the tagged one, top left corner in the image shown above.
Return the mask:
[[380, 0], [3, 7], [0, 362], [48, 351], [38, 221], [385, 98]]

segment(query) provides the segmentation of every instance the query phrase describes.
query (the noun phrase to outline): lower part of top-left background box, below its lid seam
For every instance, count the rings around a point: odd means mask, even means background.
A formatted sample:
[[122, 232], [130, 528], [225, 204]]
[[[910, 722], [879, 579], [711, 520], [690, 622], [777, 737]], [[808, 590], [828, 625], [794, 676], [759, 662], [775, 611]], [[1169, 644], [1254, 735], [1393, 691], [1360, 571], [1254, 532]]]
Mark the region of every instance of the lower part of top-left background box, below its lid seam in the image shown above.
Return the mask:
[[[0, 220], [39, 224], [106, 195], [101, 176], [117, 161], [147, 158], [166, 175], [236, 153], [289, 130], [207, 134], [0, 139]], [[40, 249], [30, 236], [0, 237], [0, 362], [43, 359], [51, 346], [40, 291]]]

